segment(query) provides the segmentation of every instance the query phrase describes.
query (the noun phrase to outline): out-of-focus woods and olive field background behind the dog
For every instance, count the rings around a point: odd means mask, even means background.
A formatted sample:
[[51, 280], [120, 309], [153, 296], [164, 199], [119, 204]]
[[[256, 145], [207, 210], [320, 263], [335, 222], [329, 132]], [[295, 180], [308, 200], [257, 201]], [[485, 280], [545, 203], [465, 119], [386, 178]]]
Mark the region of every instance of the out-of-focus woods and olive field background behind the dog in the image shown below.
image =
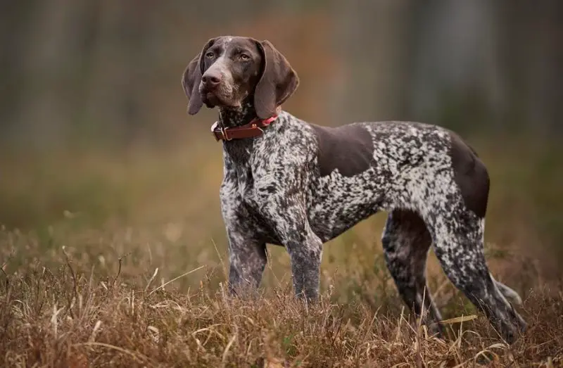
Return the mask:
[[460, 132], [491, 171], [488, 241], [559, 275], [559, 0], [3, 1], [0, 224], [38, 239], [115, 227], [120, 244], [158, 229], [192, 262], [215, 257], [210, 238], [224, 251], [217, 113], [187, 115], [180, 84], [220, 34], [284, 53], [301, 77], [284, 109], [303, 120]]

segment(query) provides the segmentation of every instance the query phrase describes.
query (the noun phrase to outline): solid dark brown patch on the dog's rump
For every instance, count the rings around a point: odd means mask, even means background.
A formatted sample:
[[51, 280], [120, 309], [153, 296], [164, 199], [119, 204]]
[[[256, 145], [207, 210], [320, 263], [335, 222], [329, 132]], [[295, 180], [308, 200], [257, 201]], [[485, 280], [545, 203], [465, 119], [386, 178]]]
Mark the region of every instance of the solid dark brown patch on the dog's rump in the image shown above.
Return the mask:
[[450, 132], [450, 137], [454, 180], [460, 187], [467, 208], [483, 218], [487, 212], [490, 184], [485, 164], [457, 134]]

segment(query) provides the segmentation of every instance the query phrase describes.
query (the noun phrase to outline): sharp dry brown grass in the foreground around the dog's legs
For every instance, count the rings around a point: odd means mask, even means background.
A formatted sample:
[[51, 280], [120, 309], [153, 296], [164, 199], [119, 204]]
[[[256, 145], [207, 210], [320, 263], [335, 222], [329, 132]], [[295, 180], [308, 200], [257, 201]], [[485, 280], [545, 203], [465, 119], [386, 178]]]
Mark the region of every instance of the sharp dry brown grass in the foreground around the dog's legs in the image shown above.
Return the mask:
[[[34, 253], [34, 236], [2, 232], [4, 245]], [[427, 336], [376, 267], [324, 272], [317, 305], [302, 305], [289, 279], [270, 281], [257, 298], [224, 293], [224, 266], [186, 272], [151, 269], [134, 247], [97, 259], [95, 251], [53, 249], [0, 277], [2, 367], [550, 367], [563, 364], [563, 294], [526, 292], [529, 331], [507, 346], [439, 274], [434, 291], [448, 337]], [[219, 251], [220, 252], [220, 251]], [[90, 255], [88, 255], [90, 254]], [[217, 255], [220, 256], [221, 252]], [[160, 262], [160, 261], [159, 261]], [[378, 266], [379, 265], [379, 266]], [[280, 269], [282, 268], [279, 266]], [[326, 270], [325, 270], [326, 271]], [[359, 273], [358, 273], [359, 272]], [[160, 277], [167, 274], [167, 277]], [[281, 279], [281, 280], [280, 280]], [[284, 279], [284, 280], [283, 280]], [[184, 280], [184, 283], [181, 281]], [[447, 291], [444, 291], [447, 290]], [[552, 364], [552, 365], [550, 365]]]

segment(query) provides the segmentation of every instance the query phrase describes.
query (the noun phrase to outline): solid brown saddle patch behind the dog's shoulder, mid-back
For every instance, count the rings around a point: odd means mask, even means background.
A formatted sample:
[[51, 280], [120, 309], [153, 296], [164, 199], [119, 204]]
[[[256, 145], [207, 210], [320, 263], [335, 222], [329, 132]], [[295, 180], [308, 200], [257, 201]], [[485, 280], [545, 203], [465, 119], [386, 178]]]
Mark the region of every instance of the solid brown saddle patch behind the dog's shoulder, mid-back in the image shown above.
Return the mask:
[[372, 136], [361, 125], [321, 127], [311, 125], [319, 140], [320, 175], [338, 169], [341, 175], [353, 177], [369, 169], [374, 156]]

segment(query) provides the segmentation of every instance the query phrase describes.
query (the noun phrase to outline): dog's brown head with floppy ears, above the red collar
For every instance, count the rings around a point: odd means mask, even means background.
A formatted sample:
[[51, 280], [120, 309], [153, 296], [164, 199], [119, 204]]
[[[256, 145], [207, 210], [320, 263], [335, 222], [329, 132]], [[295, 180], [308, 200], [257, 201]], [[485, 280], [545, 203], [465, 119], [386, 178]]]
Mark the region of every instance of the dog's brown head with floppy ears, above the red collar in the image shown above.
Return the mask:
[[203, 103], [208, 108], [239, 108], [252, 97], [258, 118], [267, 119], [298, 84], [297, 73], [270, 42], [249, 37], [210, 39], [182, 76], [190, 115]]

